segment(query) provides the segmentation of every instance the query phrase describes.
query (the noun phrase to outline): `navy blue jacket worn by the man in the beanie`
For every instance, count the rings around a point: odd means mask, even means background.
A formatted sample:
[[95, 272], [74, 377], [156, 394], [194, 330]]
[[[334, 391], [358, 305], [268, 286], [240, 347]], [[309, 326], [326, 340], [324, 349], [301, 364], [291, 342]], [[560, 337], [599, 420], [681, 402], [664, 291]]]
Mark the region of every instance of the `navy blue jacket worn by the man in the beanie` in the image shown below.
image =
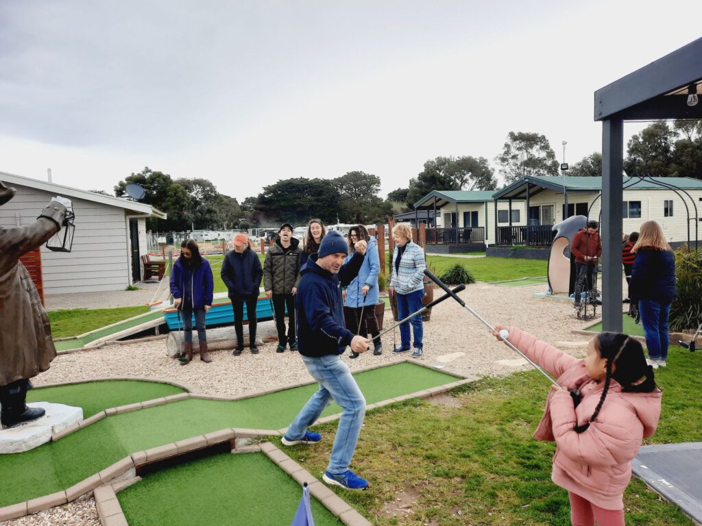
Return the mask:
[[300, 354], [316, 358], [343, 354], [351, 343], [355, 334], [344, 323], [341, 286], [358, 275], [363, 260], [356, 253], [338, 274], [332, 274], [319, 267], [317, 254], [307, 259], [296, 295]]

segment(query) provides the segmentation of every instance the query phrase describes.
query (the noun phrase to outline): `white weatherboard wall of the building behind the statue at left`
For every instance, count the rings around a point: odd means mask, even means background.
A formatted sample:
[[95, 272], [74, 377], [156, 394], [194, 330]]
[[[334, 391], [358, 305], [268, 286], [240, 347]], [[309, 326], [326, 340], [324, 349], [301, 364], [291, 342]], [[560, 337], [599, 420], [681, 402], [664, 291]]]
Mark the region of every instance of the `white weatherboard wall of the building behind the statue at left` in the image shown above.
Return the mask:
[[[53, 195], [20, 184], [12, 186], [17, 194], [0, 207], [0, 224], [32, 224]], [[79, 198], [72, 198], [72, 203], [76, 214], [72, 252], [41, 249], [44, 293], [123, 290], [131, 274], [124, 209]]]

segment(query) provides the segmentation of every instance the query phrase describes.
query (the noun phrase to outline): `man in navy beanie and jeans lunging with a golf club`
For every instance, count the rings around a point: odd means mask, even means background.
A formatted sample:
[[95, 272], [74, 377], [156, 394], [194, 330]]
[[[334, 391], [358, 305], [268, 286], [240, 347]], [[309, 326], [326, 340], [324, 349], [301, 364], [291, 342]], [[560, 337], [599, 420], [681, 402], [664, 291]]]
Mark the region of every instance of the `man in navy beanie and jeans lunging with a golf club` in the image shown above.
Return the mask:
[[297, 291], [298, 351], [310, 375], [319, 382], [312, 395], [282, 438], [284, 445], [319, 442], [322, 435], [307, 431], [334, 400], [343, 408], [329, 466], [323, 480], [350, 490], [365, 490], [368, 481], [349, 469], [366, 414], [366, 399], [341, 360], [347, 346], [356, 353], [369, 347], [368, 339], [354, 335], [344, 326], [341, 285], [358, 275], [366, 253], [366, 242], [357, 241], [355, 255], [344, 264], [348, 245], [336, 231], [322, 238], [319, 252], [310, 255]]

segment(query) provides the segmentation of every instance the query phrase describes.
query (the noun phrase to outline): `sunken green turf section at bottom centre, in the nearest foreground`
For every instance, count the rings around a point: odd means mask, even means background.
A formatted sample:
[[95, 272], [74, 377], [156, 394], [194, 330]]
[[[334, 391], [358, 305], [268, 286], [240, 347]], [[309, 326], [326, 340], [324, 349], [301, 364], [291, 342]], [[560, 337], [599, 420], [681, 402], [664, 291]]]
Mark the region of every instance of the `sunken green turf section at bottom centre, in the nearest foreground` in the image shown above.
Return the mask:
[[[300, 485], [263, 453], [180, 464], [117, 494], [130, 526], [279, 526], [292, 522], [300, 497]], [[342, 523], [314, 497], [310, 504], [314, 524]]]

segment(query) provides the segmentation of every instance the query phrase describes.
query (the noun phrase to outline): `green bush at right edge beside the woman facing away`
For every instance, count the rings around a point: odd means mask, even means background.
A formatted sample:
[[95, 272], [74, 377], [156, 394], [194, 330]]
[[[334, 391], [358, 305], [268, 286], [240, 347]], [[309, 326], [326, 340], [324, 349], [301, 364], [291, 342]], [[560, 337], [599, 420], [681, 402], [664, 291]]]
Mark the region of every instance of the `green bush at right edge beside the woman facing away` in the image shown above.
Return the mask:
[[672, 331], [696, 329], [702, 323], [702, 254], [682, 247], [675, 251], [677, 298], [670, 306]]

